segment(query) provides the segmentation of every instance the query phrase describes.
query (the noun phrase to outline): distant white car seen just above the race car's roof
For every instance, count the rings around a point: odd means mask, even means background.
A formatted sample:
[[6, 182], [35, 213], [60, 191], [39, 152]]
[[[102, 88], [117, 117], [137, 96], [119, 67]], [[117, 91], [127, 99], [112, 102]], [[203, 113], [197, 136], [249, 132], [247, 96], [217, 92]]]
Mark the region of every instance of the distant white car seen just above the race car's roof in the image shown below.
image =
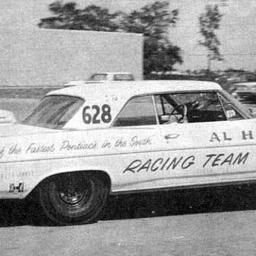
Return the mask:
[[128, 72], [95, 73], [86, 81], [69, 81], [65, 85], [85, 85], [87, 83], [105, 83], [106, 81], [134, 81], [133, 74]]

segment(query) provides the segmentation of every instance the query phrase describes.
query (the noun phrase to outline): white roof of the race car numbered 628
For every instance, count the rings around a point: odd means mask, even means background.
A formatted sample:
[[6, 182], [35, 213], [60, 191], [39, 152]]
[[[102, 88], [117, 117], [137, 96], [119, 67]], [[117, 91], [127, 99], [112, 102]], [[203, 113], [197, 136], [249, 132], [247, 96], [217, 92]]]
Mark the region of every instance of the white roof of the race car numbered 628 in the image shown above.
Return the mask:
[[143, 80], [143, 81], [115, 81], [106, 83], [93, 83], [65, 87], [51, 91], [47, 95], [70, 95], [84, 100], [90, 99], [126, 99], [136, 95], [183, 91], [213, 91], [220, 90], [217, 83], [208, 81], [187, 80]]

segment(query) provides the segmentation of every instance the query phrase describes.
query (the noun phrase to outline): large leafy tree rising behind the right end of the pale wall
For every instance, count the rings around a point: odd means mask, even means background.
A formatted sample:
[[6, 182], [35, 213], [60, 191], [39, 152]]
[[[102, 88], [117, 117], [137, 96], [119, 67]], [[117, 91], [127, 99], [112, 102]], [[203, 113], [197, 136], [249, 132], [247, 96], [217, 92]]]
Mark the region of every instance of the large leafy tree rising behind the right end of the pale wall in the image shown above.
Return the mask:
[[181, 49], [167, 37], [167, 30], [177, 23], [178, 15], [177, 9], [169, 11], [168, 1], [156, 1], [123, 19], [123, 31], [144, 35], [144, 75], [171, 71], [175, 63], [182, 63]]

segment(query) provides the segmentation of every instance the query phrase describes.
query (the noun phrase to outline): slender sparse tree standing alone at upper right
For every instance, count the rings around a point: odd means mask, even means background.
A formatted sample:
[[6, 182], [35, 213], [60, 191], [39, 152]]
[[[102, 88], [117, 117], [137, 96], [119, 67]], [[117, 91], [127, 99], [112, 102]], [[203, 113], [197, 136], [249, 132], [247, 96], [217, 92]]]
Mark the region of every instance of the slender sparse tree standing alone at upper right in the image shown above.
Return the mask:
[[219, 29], [219, 23], [223, 15], [219, 12], [218, 5], [207, 5], [205, 13], [199, 17], [199, 25], [201, 35], [204, 37], [203, 41], [199, 41], [199, 45], [207, 48], [207, 69], [211, 71], [211, 61], [223, 61], [219, 51], [221, 42], [217, 38], [216, 30]]

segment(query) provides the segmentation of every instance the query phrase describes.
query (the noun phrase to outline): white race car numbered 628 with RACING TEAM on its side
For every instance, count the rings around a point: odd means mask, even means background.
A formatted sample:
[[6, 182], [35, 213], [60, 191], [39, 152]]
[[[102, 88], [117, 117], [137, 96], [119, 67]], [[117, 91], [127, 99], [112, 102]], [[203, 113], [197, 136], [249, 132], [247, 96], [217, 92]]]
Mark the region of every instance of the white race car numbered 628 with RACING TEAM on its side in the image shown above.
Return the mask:
[[0, 137], [0, 199], [37, 199], [64, 225], [109, 194], [256, 181], [256, 119], [216, 83], [67, 87]]

